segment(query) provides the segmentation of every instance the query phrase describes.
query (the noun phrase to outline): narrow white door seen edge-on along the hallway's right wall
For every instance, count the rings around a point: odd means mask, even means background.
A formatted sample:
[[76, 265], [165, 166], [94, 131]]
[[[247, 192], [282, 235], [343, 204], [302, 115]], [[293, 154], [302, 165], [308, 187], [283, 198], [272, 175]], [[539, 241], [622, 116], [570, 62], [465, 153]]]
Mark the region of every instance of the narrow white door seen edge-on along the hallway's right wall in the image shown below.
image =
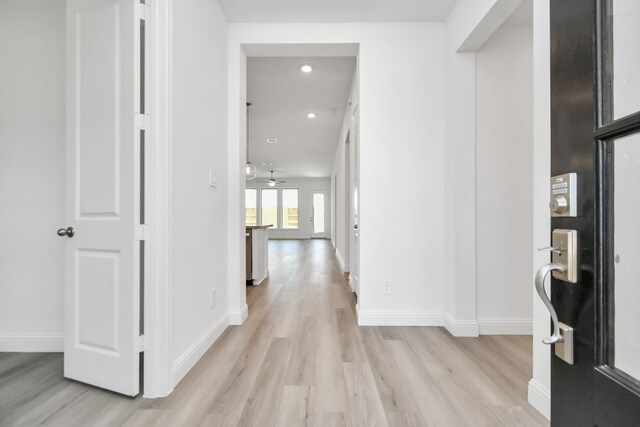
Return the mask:
[[351, 133], [351, 270], [349, 280], [351, 288], [359, 295], [360, 292], [360, 131], [358, 129], [358, 106], [353, 113], [353, 128]]

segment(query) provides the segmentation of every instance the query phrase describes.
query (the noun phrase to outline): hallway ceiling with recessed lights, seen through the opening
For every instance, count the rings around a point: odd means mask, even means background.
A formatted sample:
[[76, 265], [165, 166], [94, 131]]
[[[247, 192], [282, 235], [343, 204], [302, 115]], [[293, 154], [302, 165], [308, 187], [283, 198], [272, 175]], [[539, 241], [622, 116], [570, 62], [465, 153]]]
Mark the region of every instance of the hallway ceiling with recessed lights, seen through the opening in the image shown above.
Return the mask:
[[[300, 71], [304, 64], [313, 71]], [[276, 178], [331, 176], [355, 65], [354, 57], [247, 58], [249, 158], [259, 177], [272, 169]]]

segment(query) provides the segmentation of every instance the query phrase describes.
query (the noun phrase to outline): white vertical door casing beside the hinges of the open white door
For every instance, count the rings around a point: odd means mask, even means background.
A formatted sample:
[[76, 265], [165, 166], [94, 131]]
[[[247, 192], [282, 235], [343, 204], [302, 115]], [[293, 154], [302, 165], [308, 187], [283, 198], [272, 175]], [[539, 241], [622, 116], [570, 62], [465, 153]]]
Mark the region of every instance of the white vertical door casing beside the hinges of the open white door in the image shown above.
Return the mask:
[[173, 0], [147, 0], [147, 130], [145, 158], [144, 396], [164, 397], [173, 391], [171, 363], [171, 96]]

